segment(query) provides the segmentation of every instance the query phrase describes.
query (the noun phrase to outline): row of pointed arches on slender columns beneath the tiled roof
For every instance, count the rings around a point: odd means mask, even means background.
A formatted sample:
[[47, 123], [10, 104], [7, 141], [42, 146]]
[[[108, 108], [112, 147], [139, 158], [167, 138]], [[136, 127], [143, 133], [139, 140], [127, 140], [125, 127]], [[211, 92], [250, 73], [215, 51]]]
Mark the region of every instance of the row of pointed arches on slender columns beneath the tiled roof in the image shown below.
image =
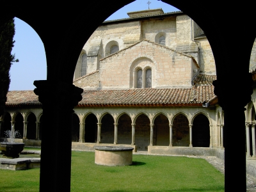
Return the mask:
[[[147, 150], [149, 145], [220, 147], [214, 113], [199, 108], [75, 108], [72, 142], [136, 145], [138, 150]], [[42, 122], [40, 109], [9, 110], [1, 119], [1, 138], [13, 125], [23, 140], [41, 140]]]

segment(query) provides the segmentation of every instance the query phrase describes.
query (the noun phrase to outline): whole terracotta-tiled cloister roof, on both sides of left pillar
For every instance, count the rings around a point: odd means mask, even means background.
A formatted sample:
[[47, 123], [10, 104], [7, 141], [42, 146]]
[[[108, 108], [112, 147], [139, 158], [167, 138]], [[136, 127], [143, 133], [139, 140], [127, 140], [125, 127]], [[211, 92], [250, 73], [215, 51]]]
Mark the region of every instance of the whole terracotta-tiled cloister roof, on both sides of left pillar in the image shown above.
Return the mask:
[[[201, 106], [216, 97], [214, 86], [192, 88], [145, 88], [128, 90], [84, 90], [80, 107], [89, 106]], [[33, 91], [11, 91], [6, 106], [41, 105]]]

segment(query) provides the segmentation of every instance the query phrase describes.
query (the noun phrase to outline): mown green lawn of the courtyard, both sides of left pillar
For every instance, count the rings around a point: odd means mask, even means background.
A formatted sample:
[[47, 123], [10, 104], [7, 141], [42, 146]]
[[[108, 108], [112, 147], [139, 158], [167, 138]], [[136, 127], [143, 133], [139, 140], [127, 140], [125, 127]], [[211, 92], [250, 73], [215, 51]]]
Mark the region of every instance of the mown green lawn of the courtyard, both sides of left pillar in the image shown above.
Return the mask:
[[[134, 155], [132, 160], [131, 166], [100, 166], [94, 152], [73, 151], [71, 191], [224, 191], [224, 175], [204, 159]], [[0, 170], [0, 191], [38, 191], [39, 171]]]

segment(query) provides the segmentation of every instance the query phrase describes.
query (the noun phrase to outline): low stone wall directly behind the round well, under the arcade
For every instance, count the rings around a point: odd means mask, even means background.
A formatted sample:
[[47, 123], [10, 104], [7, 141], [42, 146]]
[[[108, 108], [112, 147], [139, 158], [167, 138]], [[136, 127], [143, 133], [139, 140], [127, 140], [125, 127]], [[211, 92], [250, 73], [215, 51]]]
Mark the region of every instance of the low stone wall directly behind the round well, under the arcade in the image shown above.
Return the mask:
[[132, 152], [137, 152], [137, 146], [136, 145], [115, 145], [115, 144], [107, 144], [107, 143], [78, 143], [78, 142], [72, 142], [72, 150], [95, 150], [94, 147], [96, 146], [122, 146], [122, 147], [133, 147], [134, 149]]

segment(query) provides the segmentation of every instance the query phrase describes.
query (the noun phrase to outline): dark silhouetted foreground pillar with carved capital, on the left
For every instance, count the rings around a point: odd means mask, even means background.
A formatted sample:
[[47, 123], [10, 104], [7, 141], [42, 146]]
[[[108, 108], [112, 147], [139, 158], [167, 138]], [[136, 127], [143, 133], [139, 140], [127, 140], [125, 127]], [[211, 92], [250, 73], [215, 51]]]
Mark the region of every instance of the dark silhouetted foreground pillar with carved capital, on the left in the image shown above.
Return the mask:
[[49, 74], [47, 79], [51, 81], [34, 81], [47, 127], [42, 129], [39, 191], [49, 191], [49, 186], [51, 191], [70, 191], [72, 115], [83, 89], [74, 86], [72, 79], [65, 83]]

